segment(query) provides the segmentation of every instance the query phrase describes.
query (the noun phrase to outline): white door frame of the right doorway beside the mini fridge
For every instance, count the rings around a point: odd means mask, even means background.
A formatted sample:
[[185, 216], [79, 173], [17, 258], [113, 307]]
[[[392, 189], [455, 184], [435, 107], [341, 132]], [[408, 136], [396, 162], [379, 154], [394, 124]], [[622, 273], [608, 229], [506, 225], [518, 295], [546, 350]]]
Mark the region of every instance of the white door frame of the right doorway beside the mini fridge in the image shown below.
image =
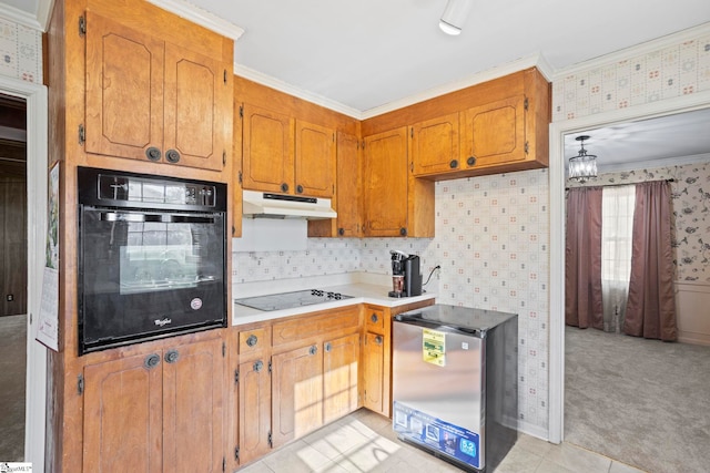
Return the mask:
[[[565, 135], [710, 107], [710, 91], [550, 124], [550, 319], [548, 440], [565, 440]], [[604, 161], [604, 156], [601, 157]]]

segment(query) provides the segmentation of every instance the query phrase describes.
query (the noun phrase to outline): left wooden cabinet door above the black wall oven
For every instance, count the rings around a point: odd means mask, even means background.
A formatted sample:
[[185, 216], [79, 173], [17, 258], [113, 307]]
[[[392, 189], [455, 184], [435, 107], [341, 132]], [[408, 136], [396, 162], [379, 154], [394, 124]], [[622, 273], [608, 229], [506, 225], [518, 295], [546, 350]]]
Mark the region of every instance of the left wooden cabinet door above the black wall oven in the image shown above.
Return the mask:
[[163, 59], [162, 41], [87, 12], [87, 152], [162, 150]]

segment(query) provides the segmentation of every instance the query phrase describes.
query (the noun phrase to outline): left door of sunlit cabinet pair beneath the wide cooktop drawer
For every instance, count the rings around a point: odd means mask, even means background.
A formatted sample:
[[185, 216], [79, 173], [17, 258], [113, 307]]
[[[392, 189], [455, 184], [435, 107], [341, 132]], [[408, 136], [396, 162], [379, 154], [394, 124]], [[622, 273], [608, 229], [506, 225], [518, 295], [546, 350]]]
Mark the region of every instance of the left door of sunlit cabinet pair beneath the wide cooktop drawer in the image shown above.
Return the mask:
[[272, 441], [283, 445], [323, 425], [323, 354], [318, 347], [272, 357]]

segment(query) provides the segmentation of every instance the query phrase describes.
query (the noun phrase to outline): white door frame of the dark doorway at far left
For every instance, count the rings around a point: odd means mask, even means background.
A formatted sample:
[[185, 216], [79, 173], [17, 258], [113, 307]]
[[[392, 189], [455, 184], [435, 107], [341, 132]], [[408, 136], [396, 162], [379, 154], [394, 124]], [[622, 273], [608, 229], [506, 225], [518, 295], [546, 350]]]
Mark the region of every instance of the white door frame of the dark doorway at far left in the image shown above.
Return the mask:
[[24, 460], [44, 471], [47, 348], [36, 341], [47, 241], [48, 91], [42, 84], [0, 75], [0, 92], [27, 103], [27, 377]]

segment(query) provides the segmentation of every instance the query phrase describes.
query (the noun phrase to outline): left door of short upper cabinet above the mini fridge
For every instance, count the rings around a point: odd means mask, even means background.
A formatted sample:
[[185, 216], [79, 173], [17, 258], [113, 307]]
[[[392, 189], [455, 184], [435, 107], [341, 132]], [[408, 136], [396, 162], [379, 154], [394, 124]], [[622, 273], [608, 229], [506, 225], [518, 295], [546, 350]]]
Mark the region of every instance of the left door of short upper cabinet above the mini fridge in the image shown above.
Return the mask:
[[412, 125], [409, 153], [415, 176], [458, 169], [458, 113]]

